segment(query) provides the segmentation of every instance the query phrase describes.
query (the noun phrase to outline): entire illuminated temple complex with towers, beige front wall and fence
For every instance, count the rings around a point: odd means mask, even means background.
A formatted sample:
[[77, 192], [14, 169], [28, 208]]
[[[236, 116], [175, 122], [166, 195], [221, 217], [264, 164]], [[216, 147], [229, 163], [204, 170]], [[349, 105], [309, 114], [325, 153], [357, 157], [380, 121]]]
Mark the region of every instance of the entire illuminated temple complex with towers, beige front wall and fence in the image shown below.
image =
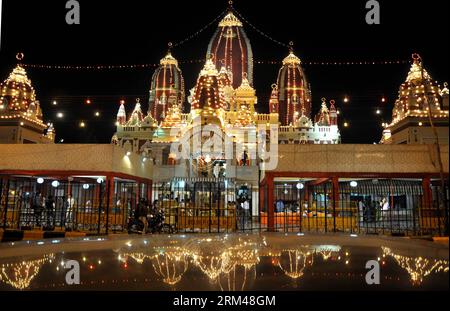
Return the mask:
[[415, 55], [382, 144], [341, 144], [338, 107], [312, 97], [293, 44], [255, 89], [243, 21], [223, 14], [194, 85], [169, 44], [146, 100], [121, 101], [106, 145], [51, 144], [19, 62], [0, 85], [0, 227], [42, 228], [30, 202], [43, 194], [57, 198], [55, 227], [75, 233], [126, 232], [143, 200], [176, 232], [448, 235], [447, 85]]

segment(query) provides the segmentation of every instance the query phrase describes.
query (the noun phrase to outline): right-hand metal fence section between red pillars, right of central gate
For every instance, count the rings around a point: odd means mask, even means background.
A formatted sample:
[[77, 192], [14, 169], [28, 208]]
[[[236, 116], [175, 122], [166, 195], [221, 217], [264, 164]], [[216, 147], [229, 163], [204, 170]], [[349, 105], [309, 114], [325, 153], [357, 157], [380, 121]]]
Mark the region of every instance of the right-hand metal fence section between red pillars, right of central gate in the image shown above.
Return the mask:
[[[275, 182], [274, 230], [398, 235], [448, 235], [448, 186], [445, 202], [431, 185], [430, 198], [418, 180], [330, 181], [320, 184]], [[431, 197], [433, 200], [431, 200]]]

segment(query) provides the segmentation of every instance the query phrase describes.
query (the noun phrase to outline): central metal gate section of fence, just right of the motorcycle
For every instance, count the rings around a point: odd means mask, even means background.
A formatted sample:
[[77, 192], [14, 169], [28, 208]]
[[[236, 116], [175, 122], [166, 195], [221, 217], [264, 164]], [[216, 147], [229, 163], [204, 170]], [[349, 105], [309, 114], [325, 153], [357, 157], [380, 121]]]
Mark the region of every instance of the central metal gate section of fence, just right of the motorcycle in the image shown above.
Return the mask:
[[234, 179], [176, 178], [153, 186], [154, 205], [177, 232], [224, 233], [261, 230], [252, 209], [251, 185]]

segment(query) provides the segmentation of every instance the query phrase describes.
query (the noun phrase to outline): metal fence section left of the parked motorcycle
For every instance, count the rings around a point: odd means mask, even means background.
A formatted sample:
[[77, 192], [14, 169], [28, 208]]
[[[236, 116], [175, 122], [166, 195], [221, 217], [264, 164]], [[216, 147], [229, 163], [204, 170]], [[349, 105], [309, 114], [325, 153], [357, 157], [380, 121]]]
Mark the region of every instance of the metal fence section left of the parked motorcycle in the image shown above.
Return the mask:
[[147, 185], [115, 180], [14, 177], [0, 180], [0, 228], [124, 232]]

